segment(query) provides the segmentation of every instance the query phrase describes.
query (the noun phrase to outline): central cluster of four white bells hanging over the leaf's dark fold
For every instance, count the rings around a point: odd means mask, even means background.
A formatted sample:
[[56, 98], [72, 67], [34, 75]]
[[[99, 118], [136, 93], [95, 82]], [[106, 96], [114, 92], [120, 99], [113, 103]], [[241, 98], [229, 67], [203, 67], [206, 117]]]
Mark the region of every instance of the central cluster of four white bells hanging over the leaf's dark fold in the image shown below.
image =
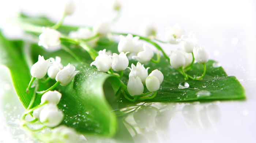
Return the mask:
[[154, 92], [160, 88], [163, 82], [163, 74], [161, 71], [155, 69], [148, 75], [148, 69], [145, 68], [140, 62], [137, 65], [131, 65], [129, 68], [129, 81], [127, 90], [131, 96], [141, 95], [144, 91], [143, 84], [146, 84], [148, 91]]

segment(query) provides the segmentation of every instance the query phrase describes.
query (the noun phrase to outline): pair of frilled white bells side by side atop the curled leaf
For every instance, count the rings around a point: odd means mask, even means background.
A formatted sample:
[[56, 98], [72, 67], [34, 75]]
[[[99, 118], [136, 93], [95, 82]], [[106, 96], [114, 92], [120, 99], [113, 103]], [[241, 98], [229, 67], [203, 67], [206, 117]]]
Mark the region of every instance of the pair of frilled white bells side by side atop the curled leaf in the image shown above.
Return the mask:
[[95, 61], [91, 63], [97, 67], [98, 71], [107, 72], [111, 68], [114, 71], [121, 71], [127, 69], [129, 60], [126, 56], [128, 52], [121, 52], [119, 55], [113, 53], [113, 55], [106, 54], [106, 49], [100, 50], [99, 55], [95, 58]]

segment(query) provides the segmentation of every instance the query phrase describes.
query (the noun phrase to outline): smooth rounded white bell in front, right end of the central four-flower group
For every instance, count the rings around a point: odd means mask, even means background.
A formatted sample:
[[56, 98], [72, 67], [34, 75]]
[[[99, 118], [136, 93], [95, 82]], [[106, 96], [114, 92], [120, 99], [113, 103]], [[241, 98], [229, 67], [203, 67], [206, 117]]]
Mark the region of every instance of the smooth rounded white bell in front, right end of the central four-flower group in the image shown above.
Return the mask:
[[160, 82], [156, 76], [148, 76], [146, 78], [146, 87], [150, 92], [157, 91], [160, 88]]

